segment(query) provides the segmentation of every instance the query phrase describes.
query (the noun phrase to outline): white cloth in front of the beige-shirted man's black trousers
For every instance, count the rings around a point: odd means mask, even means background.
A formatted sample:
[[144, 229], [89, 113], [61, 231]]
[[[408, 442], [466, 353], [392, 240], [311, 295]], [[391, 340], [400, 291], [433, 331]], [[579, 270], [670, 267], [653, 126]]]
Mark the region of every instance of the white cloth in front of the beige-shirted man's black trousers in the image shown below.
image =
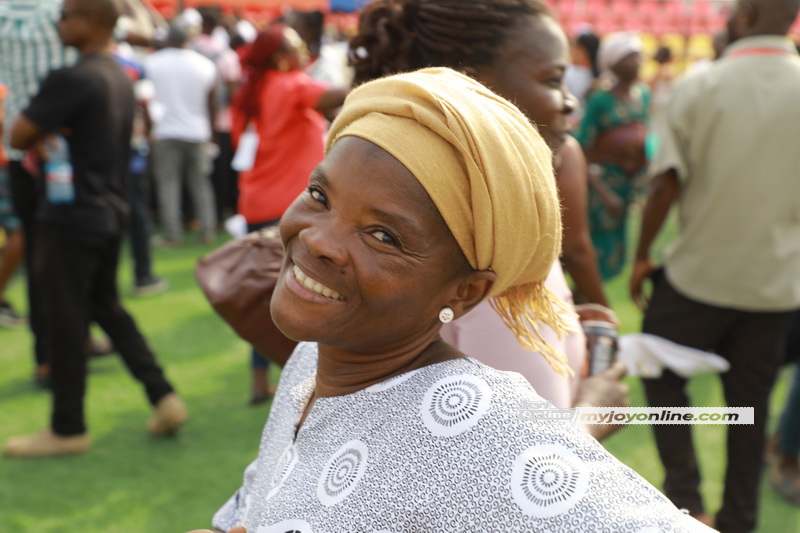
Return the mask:
[[726, 359], [710, 352], [674, 343], [649, 333], [628, 333], [619, 338], [618, 359], [629, 376], [660, 377], [664, 368], [688, 378], [706, 372], [727, 372]]

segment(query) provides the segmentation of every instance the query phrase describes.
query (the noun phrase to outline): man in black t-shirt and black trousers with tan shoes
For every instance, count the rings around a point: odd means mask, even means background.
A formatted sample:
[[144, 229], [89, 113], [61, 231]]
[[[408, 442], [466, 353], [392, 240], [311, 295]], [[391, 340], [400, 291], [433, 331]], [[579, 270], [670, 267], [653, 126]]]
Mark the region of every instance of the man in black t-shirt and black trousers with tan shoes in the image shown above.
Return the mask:
[[[36, 220], [32, 275], [43, 296], [44, 349], [52, 364], [53, 414], [49, 429], [7, 441], [5, 453], [39, 457], [83, 453], [89, 322], [116, 346], [154, 406], [150, 431], [166, 434], [186, 418], [183, 402], [158, 366], [116, 286], [120, 243], [128, 215], [125, 199], [134, 97], [112, 57], [115, 0], [66, 0], [58, 24], [65, 46], [80, 61], [53, 71], [14, 123], [14, 148], [40, 147], [52, 167], [66, 139], [69, 163], [46, 172], [46, 194]], [[71, 172], [70, 167], [71, 165]], [[71, 174], [71, 177], [70, 177]]]

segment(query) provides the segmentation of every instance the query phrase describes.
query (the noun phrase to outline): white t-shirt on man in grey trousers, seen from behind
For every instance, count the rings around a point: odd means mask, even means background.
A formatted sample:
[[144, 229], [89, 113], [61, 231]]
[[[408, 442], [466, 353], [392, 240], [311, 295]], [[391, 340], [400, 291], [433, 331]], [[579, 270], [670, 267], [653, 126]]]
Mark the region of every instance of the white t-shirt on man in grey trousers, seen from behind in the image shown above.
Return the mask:
[[164, 48], [145, 59], [144, 70], [153, 82], [153, 136], [158, 140], [210, 140], [208, 95], [217, 80], [214, 63], [194, 50]]

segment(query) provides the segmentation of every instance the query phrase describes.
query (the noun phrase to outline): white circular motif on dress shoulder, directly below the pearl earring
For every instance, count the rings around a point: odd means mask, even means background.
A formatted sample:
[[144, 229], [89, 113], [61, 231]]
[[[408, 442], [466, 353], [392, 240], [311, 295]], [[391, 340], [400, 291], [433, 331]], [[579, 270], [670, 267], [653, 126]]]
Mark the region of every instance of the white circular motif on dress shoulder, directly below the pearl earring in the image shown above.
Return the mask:
[[440, 379], [422, 399], [425, 427], [437, 437], [452, 437], [478, 423], [492, 403], [492, 390], [481, 378], [464, 374]]

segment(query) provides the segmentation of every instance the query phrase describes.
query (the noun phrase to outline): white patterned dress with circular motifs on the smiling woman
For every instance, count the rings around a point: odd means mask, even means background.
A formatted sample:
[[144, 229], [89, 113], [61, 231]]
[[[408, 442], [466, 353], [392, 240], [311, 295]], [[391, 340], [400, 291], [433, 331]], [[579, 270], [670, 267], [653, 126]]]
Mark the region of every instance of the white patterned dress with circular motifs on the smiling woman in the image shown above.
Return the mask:
[[248, 533], [711, 531], [571, 423], [526, 422], [543, 401], [474, 359], [320, 398], [317, 345], [281, 376], [244, 484], [214, 526]]

